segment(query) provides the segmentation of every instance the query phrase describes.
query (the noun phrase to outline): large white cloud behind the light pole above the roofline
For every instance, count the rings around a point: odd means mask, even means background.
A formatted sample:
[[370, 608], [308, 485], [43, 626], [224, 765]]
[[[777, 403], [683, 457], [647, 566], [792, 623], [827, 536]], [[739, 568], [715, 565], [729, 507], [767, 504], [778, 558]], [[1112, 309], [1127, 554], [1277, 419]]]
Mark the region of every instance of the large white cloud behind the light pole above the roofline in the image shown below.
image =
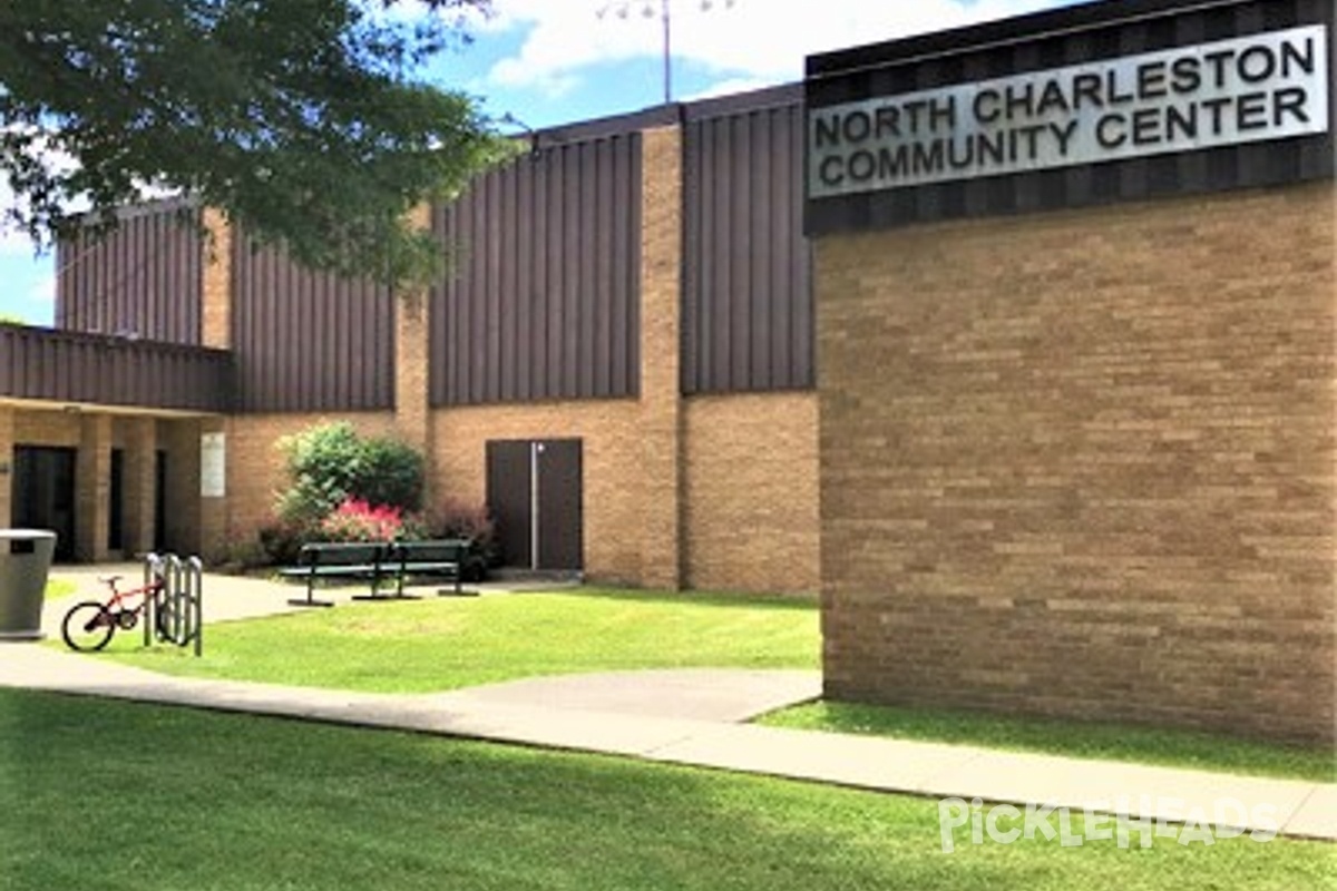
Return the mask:
[[[674, 59], [730, 79], [774, 84], [798, 80], [809, 53], [1017, 15], [1054, 7], [1056, 0], [713, 0], [706, 5], [671, 3]], [[527, 31], [519, 52], [489, 72], [496, 85], [559, 95], [590, 65], [662, 53], [660, 0], [493, 0], [493, 8], [497, 15], [483, 31]]]

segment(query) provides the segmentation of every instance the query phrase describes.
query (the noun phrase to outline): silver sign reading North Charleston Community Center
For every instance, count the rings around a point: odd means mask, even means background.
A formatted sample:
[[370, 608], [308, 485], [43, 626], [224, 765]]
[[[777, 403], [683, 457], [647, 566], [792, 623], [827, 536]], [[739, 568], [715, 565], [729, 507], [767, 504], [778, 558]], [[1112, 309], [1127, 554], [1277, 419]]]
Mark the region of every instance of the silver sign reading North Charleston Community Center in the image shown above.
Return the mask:
[[809, 198], [1328, 132], [1328, 31], [1273, 31], [808, 115]]

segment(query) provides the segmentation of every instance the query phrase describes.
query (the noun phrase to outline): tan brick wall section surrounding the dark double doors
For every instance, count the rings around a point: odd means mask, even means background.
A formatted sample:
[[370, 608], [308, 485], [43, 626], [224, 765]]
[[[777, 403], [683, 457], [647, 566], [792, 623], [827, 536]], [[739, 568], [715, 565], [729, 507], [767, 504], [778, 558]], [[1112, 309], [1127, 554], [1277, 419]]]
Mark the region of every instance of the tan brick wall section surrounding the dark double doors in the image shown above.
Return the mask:
[[439, 500], [484, 504], [488, 439], [582, 439], [584, 572], [595, 581], [654, 584], [642, 564], [647, 488], [634, 401], [451, 409], [433, 414]]

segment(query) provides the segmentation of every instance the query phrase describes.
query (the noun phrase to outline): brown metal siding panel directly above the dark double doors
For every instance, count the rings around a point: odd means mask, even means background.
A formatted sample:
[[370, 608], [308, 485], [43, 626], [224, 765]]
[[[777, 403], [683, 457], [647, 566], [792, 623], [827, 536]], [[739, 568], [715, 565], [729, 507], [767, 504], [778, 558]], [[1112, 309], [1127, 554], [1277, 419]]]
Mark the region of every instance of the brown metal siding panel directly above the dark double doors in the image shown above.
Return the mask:
[[639, 391], [640, 139], [555, 144], [439, 206], [432, 403]]

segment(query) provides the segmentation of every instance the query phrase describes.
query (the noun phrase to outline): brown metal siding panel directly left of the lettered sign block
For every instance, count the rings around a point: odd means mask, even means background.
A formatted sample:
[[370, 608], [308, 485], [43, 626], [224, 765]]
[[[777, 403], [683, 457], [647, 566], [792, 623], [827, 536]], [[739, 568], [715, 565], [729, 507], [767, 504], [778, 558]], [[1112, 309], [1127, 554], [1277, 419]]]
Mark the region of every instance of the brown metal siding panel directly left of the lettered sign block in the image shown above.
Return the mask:
[[761, 107], [689, 107], [683, 136], [682, 389], [814, 386], [810, 247], [802, 234], [797, 88]]

